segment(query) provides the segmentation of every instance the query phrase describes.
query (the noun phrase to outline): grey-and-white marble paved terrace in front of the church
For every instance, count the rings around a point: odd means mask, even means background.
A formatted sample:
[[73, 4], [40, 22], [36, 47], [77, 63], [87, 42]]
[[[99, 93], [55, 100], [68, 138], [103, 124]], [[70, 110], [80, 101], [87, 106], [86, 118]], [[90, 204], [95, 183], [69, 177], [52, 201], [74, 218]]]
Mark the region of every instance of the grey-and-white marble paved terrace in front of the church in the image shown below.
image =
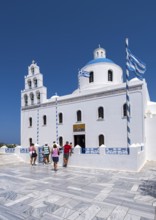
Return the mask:
[[30, 166], [0, 155], [0, 220], [156, 220], [156, 162], [140, 172]]

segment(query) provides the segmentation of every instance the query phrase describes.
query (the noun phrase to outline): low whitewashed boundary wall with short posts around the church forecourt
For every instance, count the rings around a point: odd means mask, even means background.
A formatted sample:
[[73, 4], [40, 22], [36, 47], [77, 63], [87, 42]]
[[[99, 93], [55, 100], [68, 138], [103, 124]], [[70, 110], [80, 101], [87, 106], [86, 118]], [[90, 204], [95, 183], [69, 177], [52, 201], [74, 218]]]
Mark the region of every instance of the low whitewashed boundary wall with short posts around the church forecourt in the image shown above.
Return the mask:
[[[2, 149], [5, 153], [4, 149]], [[15, 149], [18, 155], [26, 163], [30, 163], [29, 153], [20, 153], [20, 148]], [[39, 155], [39, 153], [38, 153]], [[105, 147], [100, 147], [99, 154], [81, 154], [81, 148], [76, 146], [74, 153], [69, 157], [68, 166], [80, 168], [95, 168], [123, 171], [139, 171], [145, 164], [145, 151], [141, 147], [130, 147], [129, 155], [109, 155], [105, 153]], [[42, 163], [41, 163], [42, 165]], [[59, 157], [59, 167], [63, 165], [63, 154]]]

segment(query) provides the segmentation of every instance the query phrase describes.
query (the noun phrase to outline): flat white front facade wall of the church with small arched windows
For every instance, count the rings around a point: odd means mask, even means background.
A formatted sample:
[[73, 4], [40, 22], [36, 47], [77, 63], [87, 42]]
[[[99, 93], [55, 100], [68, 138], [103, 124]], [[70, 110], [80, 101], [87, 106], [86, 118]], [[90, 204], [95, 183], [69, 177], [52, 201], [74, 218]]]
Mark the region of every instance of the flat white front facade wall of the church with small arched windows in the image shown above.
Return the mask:
[[[71, 97], [74, 97], [71, 96]], [[131, 102], [131, 143], [143, 143], [143, 97], [141, 91], [130, 93]], [[63, 102], [64, 101], [64, 102]], [[105, 145], [108, 147], [127, 146], [127, 122], [123, 117], [123, 105], [126, 102], [125, 93], [114, 93], [95, 96], [81, 96], [80, 99], [58, 98], [58, 114], [63, 114], [63, 123], [58, 125], [59, 136], [65, 141], [74, 143], [74, 135], [84, 134], [86, 147], [98, 147], [98, 136], [103, 134]], [[104, 108], [104, 119], [98, 119], [98, 108]], [[81, 110], [82, 121], [86, 125], [84, 132], [73, 132], [73, 125], [77, 124], [76, 112]], [[47, 125], [43, 126], [43, 115], [47, 116]], [[33, 119], [33, 126], [28, 124], [29, 117]], [[56, 140], [56, 108], [55, 102], [45, 104], [39, 110], [39, 145], [52, 145]], [[21, 145], [28, 146], [28, 139], [32, 137], [36, 143], [37, 137], [37, 108], [22, 111], [21, 116]], [[78, 123], [79, 124], [79, 123]]]

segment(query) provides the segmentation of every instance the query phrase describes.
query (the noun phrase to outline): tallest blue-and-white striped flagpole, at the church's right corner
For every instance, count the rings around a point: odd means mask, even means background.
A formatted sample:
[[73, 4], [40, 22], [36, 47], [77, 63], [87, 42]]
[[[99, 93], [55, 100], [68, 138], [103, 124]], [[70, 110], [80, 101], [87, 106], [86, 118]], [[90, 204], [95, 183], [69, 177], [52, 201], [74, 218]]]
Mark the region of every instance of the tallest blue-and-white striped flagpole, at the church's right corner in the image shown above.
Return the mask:
[[[126, 38], [126, 64], [128, 61], [128, 38]], [[129, 97], [129, 70], [126, 65], [126, 118], [127, 118], [127, 153], [129, 154], [129, 149], [131, 145], [131, 139], [130, 139], [130, 97]]]

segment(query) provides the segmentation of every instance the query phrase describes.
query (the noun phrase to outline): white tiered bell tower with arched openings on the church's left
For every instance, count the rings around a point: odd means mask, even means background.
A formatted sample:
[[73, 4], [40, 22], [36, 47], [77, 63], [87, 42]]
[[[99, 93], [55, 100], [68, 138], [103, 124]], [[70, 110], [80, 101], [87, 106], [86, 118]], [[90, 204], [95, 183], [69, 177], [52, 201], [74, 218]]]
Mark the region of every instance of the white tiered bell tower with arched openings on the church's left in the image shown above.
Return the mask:
[[32, 61], [28, 66], [28, 74], [25, 76], [25, 88], [21, 91], [21, 106], [33, 106], [42, 104], [47, 99], [47, 88], [43, 86], [43, 75], [40, 68]]

